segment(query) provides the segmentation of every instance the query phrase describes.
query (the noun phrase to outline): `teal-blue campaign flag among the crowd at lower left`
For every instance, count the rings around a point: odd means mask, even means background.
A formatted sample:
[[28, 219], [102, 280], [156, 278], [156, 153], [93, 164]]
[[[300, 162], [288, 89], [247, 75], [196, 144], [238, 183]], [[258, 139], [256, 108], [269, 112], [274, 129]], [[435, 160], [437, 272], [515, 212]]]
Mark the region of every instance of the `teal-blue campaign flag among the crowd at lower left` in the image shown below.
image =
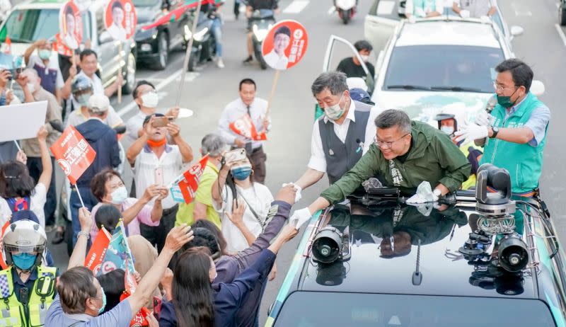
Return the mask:
[[135, 271], [134, 258], [132, 257], [132, 251], [129, 251], [122, 220], [118, 223], [114, 235], [112, 235], [112, 239], [110, 243], [108, 243], [108, 249], [106, 250], [103, 263], [100, 265], [97, 276], [116, 269], [128, 269], [131, 272]]

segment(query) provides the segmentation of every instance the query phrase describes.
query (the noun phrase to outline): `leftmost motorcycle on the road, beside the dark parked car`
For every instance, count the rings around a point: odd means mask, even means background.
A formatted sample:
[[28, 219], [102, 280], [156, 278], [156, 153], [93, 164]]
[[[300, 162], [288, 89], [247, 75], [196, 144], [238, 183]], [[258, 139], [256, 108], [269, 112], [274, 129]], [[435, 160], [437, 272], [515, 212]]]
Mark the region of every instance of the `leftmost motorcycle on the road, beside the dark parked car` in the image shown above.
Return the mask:
[[[197, 28], [195, 35], [192, 35], [190, 27], [195, 19], [198, 19]], [[214, 59], [214, 57], [216, 57], [216, 39], [212, 33], [212, 23], [213, 20], [210, 18], [209, 13], [199, 14], [193, 12], [192, 16], [189, 18], [189, 22], [185, 25], [183, 49], [187, 49], [190, 38], [193, 38], [189, 64], [187, 67], [188, 71], [195, 71], [199, 64], [210, 62]]]

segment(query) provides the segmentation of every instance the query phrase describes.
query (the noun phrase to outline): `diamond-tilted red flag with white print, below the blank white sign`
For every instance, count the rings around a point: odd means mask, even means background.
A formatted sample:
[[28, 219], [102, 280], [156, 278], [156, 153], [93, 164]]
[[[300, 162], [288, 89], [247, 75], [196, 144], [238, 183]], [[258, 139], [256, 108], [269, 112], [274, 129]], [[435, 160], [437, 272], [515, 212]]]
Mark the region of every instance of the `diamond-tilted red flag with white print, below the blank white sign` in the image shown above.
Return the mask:
[[50, 148], [72, 185], [96, 158], [96, 152], [73, 126], [67, 127]]

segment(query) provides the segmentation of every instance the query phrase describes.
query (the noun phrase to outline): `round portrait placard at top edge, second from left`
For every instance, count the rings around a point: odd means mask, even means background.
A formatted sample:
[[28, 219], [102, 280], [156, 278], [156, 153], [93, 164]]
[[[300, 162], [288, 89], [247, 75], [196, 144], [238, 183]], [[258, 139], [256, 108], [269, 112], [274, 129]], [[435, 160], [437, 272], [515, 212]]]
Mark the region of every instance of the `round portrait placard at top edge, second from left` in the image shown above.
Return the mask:
[[110, 0], [104, 24], [114, 40], [125, 42], [136, 33], [137, 15], [132, 0]]

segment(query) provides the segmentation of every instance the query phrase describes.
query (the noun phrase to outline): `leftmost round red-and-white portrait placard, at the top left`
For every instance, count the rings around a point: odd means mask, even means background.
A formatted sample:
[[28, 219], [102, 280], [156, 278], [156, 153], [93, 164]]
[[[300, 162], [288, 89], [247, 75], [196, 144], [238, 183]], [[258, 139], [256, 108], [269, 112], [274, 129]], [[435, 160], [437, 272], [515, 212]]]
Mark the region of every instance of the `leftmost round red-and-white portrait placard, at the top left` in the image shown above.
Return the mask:
[[64, 45], [72, 50], [76, 50], [83, 40], [81, 11], [72, 0], [59, 11], [59, 35]]

